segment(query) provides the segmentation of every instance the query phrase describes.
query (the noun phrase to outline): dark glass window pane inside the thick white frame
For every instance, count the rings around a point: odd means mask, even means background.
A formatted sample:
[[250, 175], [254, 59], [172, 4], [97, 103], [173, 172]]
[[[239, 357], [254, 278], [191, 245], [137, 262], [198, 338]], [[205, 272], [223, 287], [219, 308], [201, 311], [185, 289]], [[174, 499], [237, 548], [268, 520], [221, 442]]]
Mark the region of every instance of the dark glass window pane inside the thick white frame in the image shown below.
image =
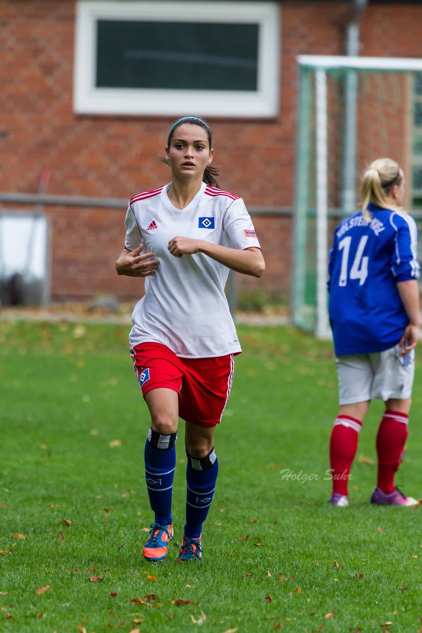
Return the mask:
[[258, 24], [97, 21], [99, 88], [257, 91]]

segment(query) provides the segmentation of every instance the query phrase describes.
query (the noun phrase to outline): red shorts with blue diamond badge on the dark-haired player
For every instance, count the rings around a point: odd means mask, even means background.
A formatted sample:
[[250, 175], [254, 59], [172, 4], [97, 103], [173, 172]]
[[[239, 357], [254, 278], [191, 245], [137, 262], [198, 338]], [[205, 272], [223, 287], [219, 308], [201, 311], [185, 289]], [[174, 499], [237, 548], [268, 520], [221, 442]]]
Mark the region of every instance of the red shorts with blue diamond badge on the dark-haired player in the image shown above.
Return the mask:
[[151, 389], [173, 389], [182, 420], [201, 427], [220, 424], [232, 388], [233, 354], [179, 358], [161, 343], [140, 343], [130, 355], [144, 398]]

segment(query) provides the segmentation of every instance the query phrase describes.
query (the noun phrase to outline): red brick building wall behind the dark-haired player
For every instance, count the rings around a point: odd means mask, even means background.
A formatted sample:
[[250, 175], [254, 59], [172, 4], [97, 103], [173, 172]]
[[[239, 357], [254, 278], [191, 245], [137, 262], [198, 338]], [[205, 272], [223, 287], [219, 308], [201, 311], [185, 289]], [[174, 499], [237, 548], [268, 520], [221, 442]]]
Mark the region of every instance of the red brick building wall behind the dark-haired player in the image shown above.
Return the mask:
[[[281, 110], [271, 120], [212, 119], [220, 185], [247, 206], [292, 208], [297, 54], [344, 54], [347, 2], [282, 2]], [[387, 4], [387, 3], [386, 3]], [[172, 117], [83, 116], [72, 108], [74, 0], [0, 0], [0, 191], [129, 199], [168, 180], [160, 165]], [[422, 8], [369, 5], [361, 54], [421, 56]], [[124, 238], [121, 211], [49, 207], [53, 298], [113, 292], [136, 298], [139, 281], [116, 276]], [[259, 281], [289, 294], [292, 220], [257, 216], [267, 261]], [[255, 280], [242, 279], [253, 289]]]

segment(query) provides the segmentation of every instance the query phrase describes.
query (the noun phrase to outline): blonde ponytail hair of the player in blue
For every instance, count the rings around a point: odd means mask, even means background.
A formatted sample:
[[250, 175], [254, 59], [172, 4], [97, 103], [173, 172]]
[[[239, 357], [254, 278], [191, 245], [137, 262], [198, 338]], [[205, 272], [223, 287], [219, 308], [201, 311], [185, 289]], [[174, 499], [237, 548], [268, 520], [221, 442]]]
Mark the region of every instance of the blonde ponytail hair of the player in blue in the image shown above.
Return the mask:
[[382, 209], [401, 210], [398, 204], [392, 203], [390, 194], [394, 185], [400, 185], [403, 172], [391, 158], [377, 158], [363, 175], [361, 184], [362, 215], [369, 222], [372, 214], [368, 204], [373, 203]]

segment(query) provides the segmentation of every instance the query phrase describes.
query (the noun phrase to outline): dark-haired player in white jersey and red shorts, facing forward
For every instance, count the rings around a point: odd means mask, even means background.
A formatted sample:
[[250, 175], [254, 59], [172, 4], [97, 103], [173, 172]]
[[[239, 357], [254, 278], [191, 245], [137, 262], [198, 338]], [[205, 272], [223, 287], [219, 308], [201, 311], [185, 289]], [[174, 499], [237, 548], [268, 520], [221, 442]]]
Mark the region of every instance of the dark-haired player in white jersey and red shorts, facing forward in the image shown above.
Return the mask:
[[261, 277], [264, 260], [241, 198], [218, 188], [204, 120], [173, 124], [166, 162], [170, 184], [130, 200], [119, 275], [145, 277], [133, 310], [130, 346], [151, 414], [146, 484], [154, 511], [146, 560], [161, 561], [173, 538], [171, 491], [178, 417], [185, 420], [186, 523], [178, 560], [201, 560], [202, 523], [214, 496], [221, 422], [241, 349], [224, 287], [228, 269]]

